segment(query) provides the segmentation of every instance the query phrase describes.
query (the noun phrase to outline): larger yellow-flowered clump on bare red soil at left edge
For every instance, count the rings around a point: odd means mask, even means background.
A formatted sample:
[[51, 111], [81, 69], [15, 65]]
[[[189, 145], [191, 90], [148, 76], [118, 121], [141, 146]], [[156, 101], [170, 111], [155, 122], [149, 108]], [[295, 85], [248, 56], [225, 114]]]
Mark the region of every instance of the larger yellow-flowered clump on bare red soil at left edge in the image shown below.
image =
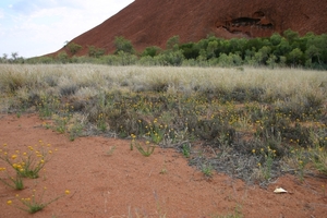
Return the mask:
[[3, 148], [0, 149], [0, 159], [7, 162], [19, 178], [38, 178], [39, 171], [51, 159], [51, 145], [43, 141], [34, 146], [27, 146], [27, 150], [15, 150], [12, 155], [7, 147], [8, 145], [3, 144]]

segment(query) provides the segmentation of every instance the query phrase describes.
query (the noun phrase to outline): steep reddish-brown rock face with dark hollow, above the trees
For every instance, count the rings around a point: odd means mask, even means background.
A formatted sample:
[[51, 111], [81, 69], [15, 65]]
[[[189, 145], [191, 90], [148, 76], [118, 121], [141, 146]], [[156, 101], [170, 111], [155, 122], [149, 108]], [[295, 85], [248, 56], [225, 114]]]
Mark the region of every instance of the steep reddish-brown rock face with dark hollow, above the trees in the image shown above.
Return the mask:
[[288, 28], [300, 35], [323, 34], [327, 33], [326, 19], [326, 0], [135, 0], [72, 41], [83, 46], [78, 56], [87, 53], [87, 46], [110, 53], [116, 36], [143, 50], [148, 46], [165, 48], [174, 35], [189, 43], [207, 35], [266, 37]]

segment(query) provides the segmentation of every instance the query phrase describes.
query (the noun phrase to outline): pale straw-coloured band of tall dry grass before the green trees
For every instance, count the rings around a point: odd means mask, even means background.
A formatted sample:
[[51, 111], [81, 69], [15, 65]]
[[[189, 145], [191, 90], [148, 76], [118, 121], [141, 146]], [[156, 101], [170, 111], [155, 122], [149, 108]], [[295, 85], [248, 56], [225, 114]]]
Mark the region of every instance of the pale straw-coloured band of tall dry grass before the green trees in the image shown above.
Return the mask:
[[0, 72], [1, 92], [16, 92], [26, 87], [29, 90], [46, 88], [47, 92], [50, 92], [49, 87], [56, 87], [56, 92], [60, 92], [68, 86], [76, 86], [76, 92], [86, 92], [88, 88], [88, 93], [116, 88], [140, 92], [159, 86], [168, 92], [186, 94], [217, 88], [256, 87], [265, 89], [266, 95], [301, 96], [326, 94], [326, 89], [319, 85], [327, 81], [326, 72], [301, 69], [245, 68], [240, 71], [221, 68], [1, 64]]

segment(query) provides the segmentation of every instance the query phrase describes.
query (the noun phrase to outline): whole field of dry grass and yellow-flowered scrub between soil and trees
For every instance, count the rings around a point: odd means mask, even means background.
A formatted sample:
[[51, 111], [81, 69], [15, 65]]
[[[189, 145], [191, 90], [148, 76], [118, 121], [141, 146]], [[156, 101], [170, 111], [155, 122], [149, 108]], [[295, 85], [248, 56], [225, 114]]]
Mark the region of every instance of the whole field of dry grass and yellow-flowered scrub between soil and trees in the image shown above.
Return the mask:
[[[326, 152], [318, 154], [327, 144], [323, 71], [87, 64], [0, 68], [5, 78], [0, 80], [1, 92], [10, 99], [1, 110], [34, 108], [40, 118], [55, 121], [45, 128], [72, 140], [85, 131], [122, 138], [133, 134], [137, 143], [178, 148], [198, 169], [208, 162], [214, 170], [263, 185], [281, 172], [300, 178], [312, 167], [324, 172]], [[8, 80], [13, 77], [19, 82]], [[198, 158], [191, 146], [196, 142], [205, 142], [211, 154]], [[134, 147], [145, 156], [154, 149], [132, 143]], [[295, 149], [307, 154], [302, 165], [294, 165]], [[234, 155], [239, 158], [230, 158]]]

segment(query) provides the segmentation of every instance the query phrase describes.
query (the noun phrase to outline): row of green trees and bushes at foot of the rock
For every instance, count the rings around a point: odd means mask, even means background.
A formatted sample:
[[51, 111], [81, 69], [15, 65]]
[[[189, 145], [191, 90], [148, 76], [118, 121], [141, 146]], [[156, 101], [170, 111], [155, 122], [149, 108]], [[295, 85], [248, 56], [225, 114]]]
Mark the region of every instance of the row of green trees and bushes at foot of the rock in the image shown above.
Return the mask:
[[106, 55], [102, 48], [88, 46], [88, 55], [76, 57], [83, 48], [74, 43], [66, 45], [68, 52], [57, 57], [41, 57], [25, 60], [28, 63], [102, 63], [114, 65], [267, 65], [303, 66], [327, 69], [327, 35], [307, 33], [300, 36], [288, 29], [282, 35], [266, 38], [222, 39], [208, 36], [197, 43], [181, 44], [179, 36], [167, 40], [166, 48], [147, 47], [136, 52], [132, 43], [124, 37], [116, 37], [116, 51]]

